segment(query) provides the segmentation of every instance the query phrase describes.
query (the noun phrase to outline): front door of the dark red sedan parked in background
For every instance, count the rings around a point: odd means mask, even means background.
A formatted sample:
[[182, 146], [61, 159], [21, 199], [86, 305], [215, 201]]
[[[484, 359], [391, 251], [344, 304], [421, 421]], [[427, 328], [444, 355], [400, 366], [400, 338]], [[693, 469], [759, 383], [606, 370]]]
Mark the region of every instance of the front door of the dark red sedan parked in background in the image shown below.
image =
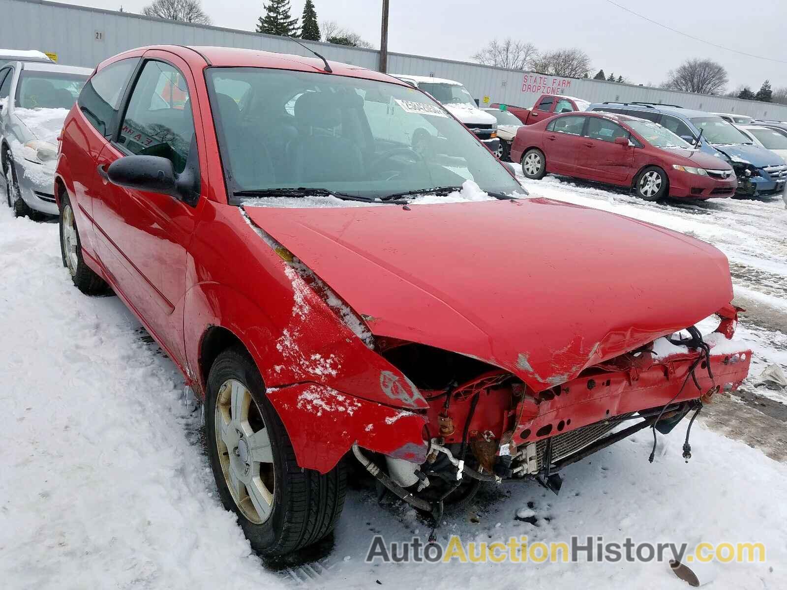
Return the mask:
[[601, 116], [587, 117], [588, 123], [578, 150], [577, 174], [602, 183], [625, 184], [634, 167], [634, 149], [615, 138], [630, 138], [619, 124]]

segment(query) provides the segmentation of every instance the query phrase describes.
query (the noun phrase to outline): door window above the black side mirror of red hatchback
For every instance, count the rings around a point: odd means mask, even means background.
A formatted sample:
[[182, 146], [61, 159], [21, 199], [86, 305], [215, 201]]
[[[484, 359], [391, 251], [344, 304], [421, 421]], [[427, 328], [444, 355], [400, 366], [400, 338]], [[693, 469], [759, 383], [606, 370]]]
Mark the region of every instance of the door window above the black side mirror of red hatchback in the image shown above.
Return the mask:
[[180, 173], [192, 138], [194, 119], [183, 74], [163, 61], [148, 61], [131, 93], [117, 141], [131, 153], [167, 158]]

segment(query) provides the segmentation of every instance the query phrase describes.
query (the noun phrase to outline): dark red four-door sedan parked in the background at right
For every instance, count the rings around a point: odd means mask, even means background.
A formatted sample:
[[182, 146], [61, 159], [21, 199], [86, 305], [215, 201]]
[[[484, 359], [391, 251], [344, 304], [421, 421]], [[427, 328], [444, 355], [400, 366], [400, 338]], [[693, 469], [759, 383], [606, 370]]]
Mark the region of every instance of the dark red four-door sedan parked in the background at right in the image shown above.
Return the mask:
[[582, 112], [520, 127], [511, 149], [527, 178], [548, 172], [617, 186], [638, 197], [731, 197], [737, 179], [720, 158], [693, 149], [665, 127], [635, 117]]

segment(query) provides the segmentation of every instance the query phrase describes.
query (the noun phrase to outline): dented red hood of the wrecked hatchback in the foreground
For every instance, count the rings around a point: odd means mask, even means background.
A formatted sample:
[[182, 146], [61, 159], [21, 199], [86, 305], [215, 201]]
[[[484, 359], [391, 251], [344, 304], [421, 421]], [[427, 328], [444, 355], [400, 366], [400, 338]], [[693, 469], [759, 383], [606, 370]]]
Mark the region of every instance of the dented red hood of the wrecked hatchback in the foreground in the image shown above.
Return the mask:
[[559, 201], [246, 211], [374, 334], [473, 356], [536, 390], [733, 297], [711, 245]]

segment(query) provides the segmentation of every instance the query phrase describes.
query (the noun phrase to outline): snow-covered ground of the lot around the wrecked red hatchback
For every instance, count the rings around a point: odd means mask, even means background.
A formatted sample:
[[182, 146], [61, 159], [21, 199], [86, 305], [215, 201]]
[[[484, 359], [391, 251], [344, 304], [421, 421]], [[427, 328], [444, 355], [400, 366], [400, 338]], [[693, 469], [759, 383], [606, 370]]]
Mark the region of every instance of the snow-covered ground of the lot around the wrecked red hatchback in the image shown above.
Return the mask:
[[[751, 310], [739, 335], [756, 352], [752, 374], [767, 363], [787, 368], [781, 201], [676, 207], [552, 178], [526, 184], [534, 196], [718, 245]], [[179, 374], [116, 297], [72, 286], [57, 240], [55, 223], [13, 219], [0, 206], [0, 587], [686, 588], [657, 562], [364, 563], [374, 533], [389, 542], [429, 533], [412, 510], [378, 507], [364, 488], [349, 492], [322, 555], [284, 569], [260, 562], [216, 496], [199, 410], [183, 399]], [[745, 387], [762, 391], [753, 379]], [[719, 564], [708, 588], [787, 588], [787, 466], [702, 424], [686, 464], [684, 434], [682, 422], [660, 437], [652, 464], [649, 431], [597, 453], [564, 471], [560, 496], [533, 483], [489, 489], [467, 514], [445, 518], [438, 535], [763, 542], [767, 562]], [[535, 524], [515, 520], [530, 510]]]

